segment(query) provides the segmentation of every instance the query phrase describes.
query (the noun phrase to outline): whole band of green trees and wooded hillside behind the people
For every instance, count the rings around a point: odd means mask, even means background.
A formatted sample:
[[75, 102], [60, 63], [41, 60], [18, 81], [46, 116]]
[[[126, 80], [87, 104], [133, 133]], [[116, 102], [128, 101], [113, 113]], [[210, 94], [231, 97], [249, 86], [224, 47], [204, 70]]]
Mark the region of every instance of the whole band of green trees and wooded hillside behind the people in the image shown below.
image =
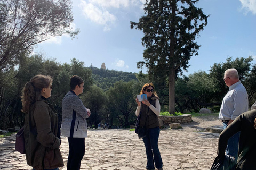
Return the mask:
[[[0, 70], [0, 129], [23, 125], [25, 114], [21, 113], [21, 91], [24, 84], [36, 74], [53, 77], [53, 90], [48, 100], [60, 117], [62, 98], [70, 90], [70, 77], [79, 75], [85, 81], [81, 99], [92, 112], [88, 120], [90, 128], [97, 128], [99, 123], [103, 128], [129, 128], [135, 123], [135, 96], [139, 94], [143, 84], [150, 82], [148, 74], [84, 67], [84, 62], [75, 58], [71, 60], [71, 64], [60, 64], [54, 59], [46, 60], [42, 54], [28, 57], [27, 53], [22, 53], [20, 57], [22, 60], [17, 66], [10, 65], [4, 71]], [[187, 77], [178, 77], [175, 81], [175, 113], [178, 113], [175, 115], [189, 112], [194, 117], [218, 117], [221, 101], [228, 90], [222, 80], [223, 74], [230, 67], [238, 70], [249, 95], [250, 107], [256, 100], [256, 65], [251, 62], [252, 57], [235, 60], [230, 57], [226, 62], [214, 63], [209, 74], [198, 71]], [[168, 79], [157, 78], [153, 83], [160, 97], [162, 111], [167, 111]], [[198, 113], [203, 107], [214, 113]], [[161, 115], [169, 115], [169, 112], [162, 112]]]

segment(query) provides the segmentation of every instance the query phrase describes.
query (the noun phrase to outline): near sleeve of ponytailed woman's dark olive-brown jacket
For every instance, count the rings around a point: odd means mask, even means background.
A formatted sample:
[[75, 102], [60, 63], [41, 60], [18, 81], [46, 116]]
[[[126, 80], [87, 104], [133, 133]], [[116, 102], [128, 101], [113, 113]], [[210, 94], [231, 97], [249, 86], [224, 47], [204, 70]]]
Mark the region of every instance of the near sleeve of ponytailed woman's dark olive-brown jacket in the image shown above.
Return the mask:
[[56, 149], [60, 146], [60, 139], [51, 130], [49, 108], [47, 105], [37, 105], [34, 111], [34, 119], [37, 128], [37, 141], [45, 147]]

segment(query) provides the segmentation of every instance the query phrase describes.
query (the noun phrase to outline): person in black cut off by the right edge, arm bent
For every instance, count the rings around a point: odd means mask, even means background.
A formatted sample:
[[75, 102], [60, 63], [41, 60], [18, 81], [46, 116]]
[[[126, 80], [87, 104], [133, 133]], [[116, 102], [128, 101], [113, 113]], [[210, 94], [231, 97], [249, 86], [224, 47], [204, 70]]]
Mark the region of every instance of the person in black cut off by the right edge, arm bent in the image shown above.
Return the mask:
[[218, 143], [218, 160], [225, 157], [225, 149], [229, 138], [241, 131], [238, 146], [237, 163], [241, 170], [256, 169], [256, 109], [239, 115], [222, 131]]

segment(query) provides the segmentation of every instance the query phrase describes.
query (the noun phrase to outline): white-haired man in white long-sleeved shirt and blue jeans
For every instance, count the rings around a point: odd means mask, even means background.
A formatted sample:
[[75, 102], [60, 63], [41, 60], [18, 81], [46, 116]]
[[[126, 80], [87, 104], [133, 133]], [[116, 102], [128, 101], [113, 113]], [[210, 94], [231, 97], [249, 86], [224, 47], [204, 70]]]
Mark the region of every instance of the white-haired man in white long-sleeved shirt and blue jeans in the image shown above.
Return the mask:
[[[229, 87], [229, 91], [223, 98], [219, 118], [222, 120], [224, 128], [227, 128], [237, 116], [248, 111], [248, 95], [245, 87], [239, 81], [239, 75], [236, 69], [226, 70], [223, 80]], [[227, 154], [234, 156], [236, 160], [238, 157], [239, 135], [240, 132], [228, 140], [226, 149]]]

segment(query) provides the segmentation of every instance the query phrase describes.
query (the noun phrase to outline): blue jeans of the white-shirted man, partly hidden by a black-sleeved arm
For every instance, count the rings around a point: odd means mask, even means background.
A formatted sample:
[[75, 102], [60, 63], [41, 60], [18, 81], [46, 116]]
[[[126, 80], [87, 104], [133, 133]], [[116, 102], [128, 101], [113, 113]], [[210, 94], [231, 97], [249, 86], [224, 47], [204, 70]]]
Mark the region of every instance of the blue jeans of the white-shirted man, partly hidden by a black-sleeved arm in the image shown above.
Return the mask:
[[[223, 122], [224, 129], [227, 128], [227, 123], [228, 122]], [[228, 145], [226, 148], [226, 154], [234, 156], [234, 158], [237, 161], [238, 157], [238, 145], [239, 145], [239, 138], [240, 138], [240, 132], [237, 132], [236, 134], [233, 135], [233, 137], [229, 138], [228, 140]]]

